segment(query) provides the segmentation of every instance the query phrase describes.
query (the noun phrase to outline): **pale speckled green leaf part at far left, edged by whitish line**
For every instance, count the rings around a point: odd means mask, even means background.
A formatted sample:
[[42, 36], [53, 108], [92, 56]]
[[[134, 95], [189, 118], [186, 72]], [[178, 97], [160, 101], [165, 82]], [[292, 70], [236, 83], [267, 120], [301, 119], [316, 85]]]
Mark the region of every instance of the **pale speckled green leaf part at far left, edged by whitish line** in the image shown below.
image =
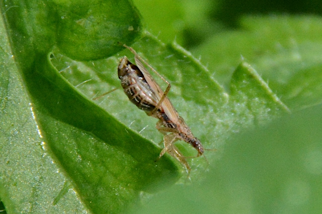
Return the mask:
[[[0, 29], [5, 32], [0, 18]], [[46, 148], [36, 111], [24, 87], [6, 34], [0, 34], [0, 194], [9, 213], [82, 212], [86, 210], [75, 191], [68, 191], [57, 206], [64, 182], [70, 182]]]

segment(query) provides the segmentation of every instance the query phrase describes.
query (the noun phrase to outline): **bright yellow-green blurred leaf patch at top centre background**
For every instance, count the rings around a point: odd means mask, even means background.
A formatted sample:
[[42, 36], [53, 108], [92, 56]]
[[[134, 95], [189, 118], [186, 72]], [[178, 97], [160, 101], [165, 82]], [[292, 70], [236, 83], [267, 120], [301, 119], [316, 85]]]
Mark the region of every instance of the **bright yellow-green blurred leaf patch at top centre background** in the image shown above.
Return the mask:
[[[207, 37], [222, 31], [223, 25], [214, 22], [211, 14], [219, 9], [213, 0], [133, 0], [146, 29], [158, 39], [184, 47], [202, 44]], [[171, 5], [171, 7], [169, 7]]]

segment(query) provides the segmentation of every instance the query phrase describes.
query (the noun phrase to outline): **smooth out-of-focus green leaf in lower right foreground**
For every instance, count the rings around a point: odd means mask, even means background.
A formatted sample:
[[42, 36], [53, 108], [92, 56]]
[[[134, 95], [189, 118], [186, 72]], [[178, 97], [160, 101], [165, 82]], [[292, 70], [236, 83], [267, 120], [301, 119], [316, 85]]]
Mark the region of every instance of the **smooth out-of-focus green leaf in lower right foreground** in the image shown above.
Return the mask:
[[203, 182], [175, 185], [132, 213], [318, 213], [321, 105], [236, 134]]

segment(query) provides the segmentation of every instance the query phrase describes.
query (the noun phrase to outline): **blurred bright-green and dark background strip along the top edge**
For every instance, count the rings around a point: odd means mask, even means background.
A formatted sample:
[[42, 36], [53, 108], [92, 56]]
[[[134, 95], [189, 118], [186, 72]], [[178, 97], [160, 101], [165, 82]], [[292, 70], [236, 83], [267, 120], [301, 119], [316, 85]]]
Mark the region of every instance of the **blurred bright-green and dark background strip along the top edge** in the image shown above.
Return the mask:
[[321, 15], [322, 2], [235, 0], [134, 0], [147, 30], [162, 41], [174, 39], [192, 49], [215, 34], [243, 29], [240, 18], [248, 15]]

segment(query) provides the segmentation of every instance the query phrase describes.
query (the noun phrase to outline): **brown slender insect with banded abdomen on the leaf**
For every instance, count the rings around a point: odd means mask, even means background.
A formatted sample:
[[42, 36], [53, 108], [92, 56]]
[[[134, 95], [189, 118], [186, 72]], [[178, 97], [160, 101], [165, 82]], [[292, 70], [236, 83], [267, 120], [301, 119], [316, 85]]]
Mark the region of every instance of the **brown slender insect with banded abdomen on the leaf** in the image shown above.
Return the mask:
[[[126, 45], [123, 46], [134, 54], [136, 63], [136, 65], [132, 64], [127, 57], [120, 59], [118, 77], [121, 80], [125, 94], [132, 103], [143, 110], [148, 116], [158, 119], [156, 129], [164, 134], [164, 149], [160, 152], [159, 158], [168, 152], [186, 167], [189, 174], [191, 167], [186, 161], [188, 157], [183, 156], [174, 144], [178, 140], [189, 143], [198, 151], [196, 156], [198, 157], [204, 153], [200, 140], [192, 134], [184, 119], [179, 116], [177, 110], [167, 97], [171, 84], [146, 63], [133, 48]], [[165, 92], [153, 80], [142, 62], [168, 84]]]

